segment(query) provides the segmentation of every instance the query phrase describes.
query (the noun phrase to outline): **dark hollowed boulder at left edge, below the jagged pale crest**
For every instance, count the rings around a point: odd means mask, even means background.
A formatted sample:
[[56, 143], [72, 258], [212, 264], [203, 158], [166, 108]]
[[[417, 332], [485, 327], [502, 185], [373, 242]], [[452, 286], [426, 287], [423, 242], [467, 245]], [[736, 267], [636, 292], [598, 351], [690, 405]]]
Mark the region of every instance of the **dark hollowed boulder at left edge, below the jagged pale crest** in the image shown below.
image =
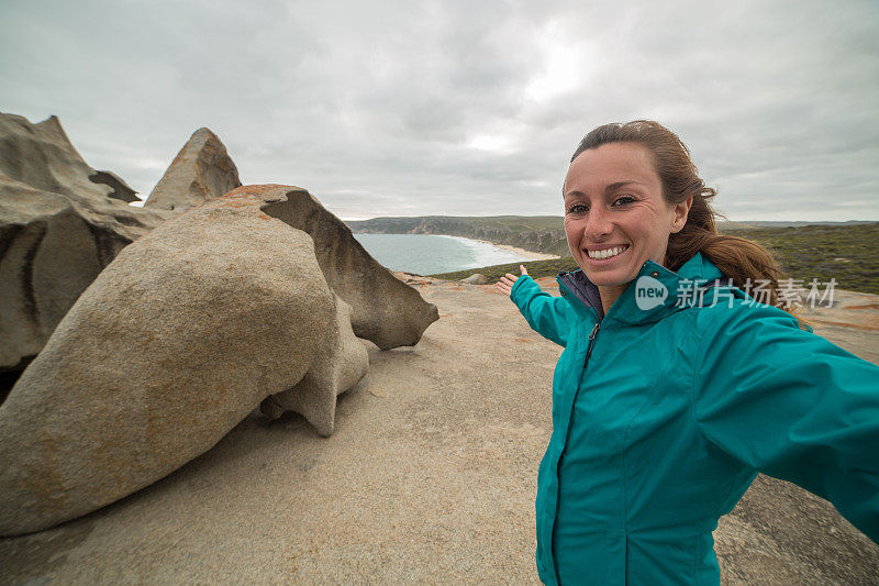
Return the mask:
[[56, 181], [60, 192], [47, 191], [0, 174], [0, 371], [23, 368], [119, 251], [174, 215], [111, 199], [102, 186], [63, 173], [62, 162], [35, 156], [35, 166], [43, 163], [56, 175], [19, 167], [19, 176], [46, 186], [48, 178], [71, 184]]

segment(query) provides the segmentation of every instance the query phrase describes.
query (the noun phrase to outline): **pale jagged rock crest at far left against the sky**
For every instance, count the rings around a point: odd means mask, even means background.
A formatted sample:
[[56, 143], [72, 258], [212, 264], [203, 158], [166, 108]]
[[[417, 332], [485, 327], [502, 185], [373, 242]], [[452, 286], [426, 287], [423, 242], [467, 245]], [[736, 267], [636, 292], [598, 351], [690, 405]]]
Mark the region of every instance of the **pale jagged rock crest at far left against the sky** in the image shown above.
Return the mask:
[[86, 164], [54, 115], [31, 124], [0, 112], [0, 174], [43, 191], [137, 201], [119, 176]]

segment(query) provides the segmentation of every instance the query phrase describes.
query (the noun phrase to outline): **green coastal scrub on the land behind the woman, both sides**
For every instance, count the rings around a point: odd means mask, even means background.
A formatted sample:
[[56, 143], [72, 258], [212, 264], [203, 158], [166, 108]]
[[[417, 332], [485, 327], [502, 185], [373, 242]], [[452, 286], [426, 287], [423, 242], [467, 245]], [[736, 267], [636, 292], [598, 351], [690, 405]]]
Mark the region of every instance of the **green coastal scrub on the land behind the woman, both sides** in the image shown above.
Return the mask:
[[[507, 221], [511, 225], [515, 222], [527, 225], [522, 222], [523, 219], [515, 217], [491, 220]], [[548, 218], [535, 219], [537, 220], [545, 221]], [[557, 222], [560, 219], [554, 218], [553, 221]], [[721, 228], [721, 231], [769, 248], [788, 277], [803, 279], [806, 288], [813, 278], [822, 284], [821, 289], [824, 288], [824, 283], [835, 278], [836, 287], [839, 289], [879, 295], [879, 222], [795, 228], [743, 228], [742, 224], [732, 224]], [[574, 259], [566, 256], [552, 261], [530, 261], [431, 276], [458, 280], [474, 273], [482, 273], [490, 283], [493, 283], [507, 273], [519, 275], [520, 264], [525, 265], [528, 274], [535, 278], [555, 276], [560, 272], [577, 268]]]

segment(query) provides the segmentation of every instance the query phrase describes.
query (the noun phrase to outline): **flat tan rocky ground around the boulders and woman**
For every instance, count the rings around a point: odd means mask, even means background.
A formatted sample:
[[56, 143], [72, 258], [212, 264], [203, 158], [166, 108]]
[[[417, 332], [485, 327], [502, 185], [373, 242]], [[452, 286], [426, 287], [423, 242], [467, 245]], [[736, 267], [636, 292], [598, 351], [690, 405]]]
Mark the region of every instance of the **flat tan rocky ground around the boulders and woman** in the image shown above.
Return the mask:
[[[560, 349], [492, 286], [413, 286], [439, 321], [413, 349], [370, 344], [332, 436], [254, 412], [148, 488], [0, 540], [0, 583], [537, 583], [536, 469]], [[879, 363], [879, 296], [836, 300], [804, 316]], [[758, 478], [715, 539], [724, 584], [879, 584], [879, 546], [783, 482]]]

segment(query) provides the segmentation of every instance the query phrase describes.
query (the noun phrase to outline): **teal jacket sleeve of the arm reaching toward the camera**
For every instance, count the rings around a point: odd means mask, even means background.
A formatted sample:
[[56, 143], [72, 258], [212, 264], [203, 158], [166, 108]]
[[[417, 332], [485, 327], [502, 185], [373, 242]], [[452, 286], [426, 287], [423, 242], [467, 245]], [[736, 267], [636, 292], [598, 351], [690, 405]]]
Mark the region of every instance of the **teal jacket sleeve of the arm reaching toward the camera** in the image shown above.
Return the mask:
[[705, 308], [693, 416], [709, 441], [830, 500], [879, 542], [879, 366], [780, 309]]

